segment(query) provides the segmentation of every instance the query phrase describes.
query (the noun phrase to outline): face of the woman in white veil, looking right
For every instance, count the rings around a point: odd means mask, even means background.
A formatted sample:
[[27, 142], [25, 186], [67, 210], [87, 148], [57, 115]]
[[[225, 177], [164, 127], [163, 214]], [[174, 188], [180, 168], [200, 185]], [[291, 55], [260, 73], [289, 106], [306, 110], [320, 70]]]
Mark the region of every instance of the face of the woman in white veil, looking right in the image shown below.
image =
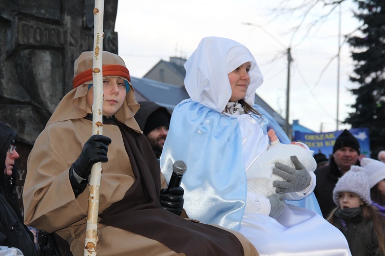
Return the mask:
[[234, 71], [228, 73], [228, 80], [232, 87], [230, 102], [236, 102], [246, 97], [247, 87], [250, 83], [250, 76], [248, 75], [250, 67], [250, 62], [245, 62]]

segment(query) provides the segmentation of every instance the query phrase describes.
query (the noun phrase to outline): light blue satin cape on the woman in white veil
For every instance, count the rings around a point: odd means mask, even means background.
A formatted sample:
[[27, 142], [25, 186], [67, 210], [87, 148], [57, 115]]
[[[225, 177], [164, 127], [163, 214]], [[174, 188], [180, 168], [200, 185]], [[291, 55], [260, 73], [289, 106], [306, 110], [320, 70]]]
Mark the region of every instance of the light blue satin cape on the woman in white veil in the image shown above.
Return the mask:
[[[262, 114], [252, 115], [266, 134], [275, 130], [281, 143], [290, 143], [278, 123], [260, 106]], [[161, 169], [169, 181], [172, 163], [183, 160], [187, 171], [184, 208], [188, 216], [203, 223], [239, 230], [246, 204], [247, 182], [242, 156], [242, 136], [236, 117], [219, 113], [187, 99], [172, 113], [167, 139], [160, 158]], [[313, 193], [288, 203], [316, 211], [321, 215]]]

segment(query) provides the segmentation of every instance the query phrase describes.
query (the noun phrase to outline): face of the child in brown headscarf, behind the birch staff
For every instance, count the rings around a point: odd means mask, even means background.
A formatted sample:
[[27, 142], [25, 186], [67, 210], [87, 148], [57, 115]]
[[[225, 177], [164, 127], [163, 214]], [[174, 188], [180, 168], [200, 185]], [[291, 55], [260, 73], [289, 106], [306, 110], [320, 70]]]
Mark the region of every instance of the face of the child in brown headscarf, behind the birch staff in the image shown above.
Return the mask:
[[[126, 93], [126, 86], [122, 78], [108, 77], [103, 79], [103, 116], [115, 115], [122, 107]], [[88, 90], [86, 99], [87, 112], [92, 113], [93, 86]]]

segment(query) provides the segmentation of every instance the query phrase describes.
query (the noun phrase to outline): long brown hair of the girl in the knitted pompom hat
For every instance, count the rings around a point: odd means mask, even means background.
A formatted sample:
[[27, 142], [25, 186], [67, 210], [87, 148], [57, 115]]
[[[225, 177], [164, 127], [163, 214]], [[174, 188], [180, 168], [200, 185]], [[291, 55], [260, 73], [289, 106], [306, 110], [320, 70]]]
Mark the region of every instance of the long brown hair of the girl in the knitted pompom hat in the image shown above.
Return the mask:
[[[333, 216], [336, 212], [338, 207], [336, 207], [329, 215], [328, 220], [332, 225], [334, 225], [334, 219]], [[363, 223], [365, 224], [370, 219], [373, 220], [373, 231], [377, 236], [378, 239], [378, 251], [382, 254], [385, 254], [385, 233], [383, 230], [385, 230], [385, 215], [383, 215], [376, 206], [374, 205], [362, 205], [362, 212], [363, 212]]]

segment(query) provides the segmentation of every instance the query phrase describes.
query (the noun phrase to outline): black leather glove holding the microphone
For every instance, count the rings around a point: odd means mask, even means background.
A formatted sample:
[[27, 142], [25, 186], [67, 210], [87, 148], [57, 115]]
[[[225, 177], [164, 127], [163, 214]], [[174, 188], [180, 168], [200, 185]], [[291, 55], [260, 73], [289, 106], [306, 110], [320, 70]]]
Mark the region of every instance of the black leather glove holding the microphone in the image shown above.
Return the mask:
[[163, 209], [171, 211], [176, 215], [181, 215], [183, 210], [183, 194], [183, 187], [172, 187], [169, 191], [167, 191], [167, 188], [162, 188], [160, 199]]

